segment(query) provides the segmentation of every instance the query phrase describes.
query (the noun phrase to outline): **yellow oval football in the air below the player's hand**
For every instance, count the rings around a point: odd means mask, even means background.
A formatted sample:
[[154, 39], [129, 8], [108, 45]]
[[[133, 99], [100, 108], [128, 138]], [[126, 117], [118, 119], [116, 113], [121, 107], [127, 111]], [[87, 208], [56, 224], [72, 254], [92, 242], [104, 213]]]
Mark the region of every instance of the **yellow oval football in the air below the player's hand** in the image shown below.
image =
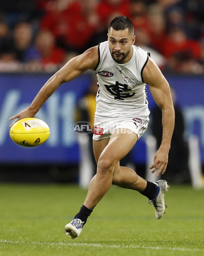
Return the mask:
[[11, 139], [23, 147], [36, 147], [43, 144], [50, 136], [50, 128], [38, 118], [24, 118], [10, 129]]

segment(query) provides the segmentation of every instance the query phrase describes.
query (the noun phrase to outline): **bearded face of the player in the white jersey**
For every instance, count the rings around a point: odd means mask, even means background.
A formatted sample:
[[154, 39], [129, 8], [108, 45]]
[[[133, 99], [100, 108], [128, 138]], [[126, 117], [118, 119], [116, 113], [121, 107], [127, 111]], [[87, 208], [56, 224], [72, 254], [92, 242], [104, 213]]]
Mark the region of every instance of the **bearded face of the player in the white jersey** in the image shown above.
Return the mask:
[[126, 63], [131, 59], [134, 43], [135, 36], [130, 35], [128, 28], [124, 30], [111, 28], [108, 33], [108, 46], [111, 56], [119, 64]]

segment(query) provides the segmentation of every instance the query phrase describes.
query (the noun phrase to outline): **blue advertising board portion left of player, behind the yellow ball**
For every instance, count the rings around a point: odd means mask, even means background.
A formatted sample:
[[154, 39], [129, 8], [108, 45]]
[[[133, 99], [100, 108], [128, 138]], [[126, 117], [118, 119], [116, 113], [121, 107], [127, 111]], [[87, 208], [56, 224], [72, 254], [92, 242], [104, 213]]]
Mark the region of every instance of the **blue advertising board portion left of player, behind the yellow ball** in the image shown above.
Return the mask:
[[86, 93], [90, 75], [83, 75], [61, 85], [46, 101], [36, 118], [50, 127], [50, 137], [43, 145], [26, 148], [15, 144], [9, 135], [9, 117], [27, 108], [49, 74], [1, 74], [0, 161], [3, 163], [78, 163], [76, 135], [70, 126], [75, 122], [76, 104]]

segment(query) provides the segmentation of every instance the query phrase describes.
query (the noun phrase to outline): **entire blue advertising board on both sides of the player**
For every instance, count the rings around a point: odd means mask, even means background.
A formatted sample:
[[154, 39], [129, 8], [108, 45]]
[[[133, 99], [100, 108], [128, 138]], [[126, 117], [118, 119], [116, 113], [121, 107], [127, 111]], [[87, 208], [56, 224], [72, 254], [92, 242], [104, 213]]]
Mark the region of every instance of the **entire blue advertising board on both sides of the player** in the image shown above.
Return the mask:
[[[75, 122], [76, 105], [88, 90], [91, 75], [83, 74], [61, 85], [46, 101], [35, 117], [50, 127], [50, 137], [43, 145], [24, 148], [9, 136], [9, 117], [27, 108], [50, 74], [0, 74], [0, 162], [1, 163], [78, 163], [79, 148], [76, 134], [70, 126]], [[184, 114], [186, 138], [197, 134], [201, 159], [204, 163], [204, 76], [167, 75], [175, 89], [177, 103]], [[148, 89], [148, 88], [147, 88]], [[155, 106], [149, 89], [149, 108]], [[150, 115], [151, 118], [151, 115]], [[133, 148], [133, 161], [145, 163], [145, 136]]]

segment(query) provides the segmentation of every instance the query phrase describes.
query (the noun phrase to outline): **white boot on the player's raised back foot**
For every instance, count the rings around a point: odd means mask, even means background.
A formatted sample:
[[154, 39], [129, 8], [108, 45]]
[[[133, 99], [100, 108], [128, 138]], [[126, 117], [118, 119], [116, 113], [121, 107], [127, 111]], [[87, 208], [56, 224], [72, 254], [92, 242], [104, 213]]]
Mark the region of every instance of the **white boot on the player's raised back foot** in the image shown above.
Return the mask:
[[164, 202], [164, 195], [165, 195], [166, 191], [168, 191], [169, 185], [167, 184], [167, 182], [165, 180], [159, 180], [159, 181], [156, 181], [153, 183], [159, 187], [159, 192], [155, 199], [153, 199], [153, 200], [148, 199], [148, 203], [154, 205], [155, 216], [157, 219], [160, 219], [164, 215], [165, 208], [167, 207]]

